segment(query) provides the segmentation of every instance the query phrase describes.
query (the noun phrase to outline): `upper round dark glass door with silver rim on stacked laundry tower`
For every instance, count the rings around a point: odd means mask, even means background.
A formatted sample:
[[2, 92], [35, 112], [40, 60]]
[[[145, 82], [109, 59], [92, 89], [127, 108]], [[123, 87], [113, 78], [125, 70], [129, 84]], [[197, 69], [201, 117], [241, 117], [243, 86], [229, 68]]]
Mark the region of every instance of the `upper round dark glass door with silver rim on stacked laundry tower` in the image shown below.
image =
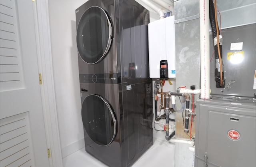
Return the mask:
[[110, 50], [112, 35], [112, 21], [108, 13], [98, 6], [88, 8], [78, 23], [76, 34], [82, 60], [88, 64], [100, 62]]

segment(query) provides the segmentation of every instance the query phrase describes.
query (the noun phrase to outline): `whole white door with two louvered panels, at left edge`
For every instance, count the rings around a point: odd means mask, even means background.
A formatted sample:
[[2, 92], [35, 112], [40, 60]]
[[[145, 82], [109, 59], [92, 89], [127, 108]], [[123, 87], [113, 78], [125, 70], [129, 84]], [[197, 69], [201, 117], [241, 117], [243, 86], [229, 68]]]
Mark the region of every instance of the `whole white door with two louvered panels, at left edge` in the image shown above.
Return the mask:
[[32, 0], [0, 0], [0, 166], [49, 167]]

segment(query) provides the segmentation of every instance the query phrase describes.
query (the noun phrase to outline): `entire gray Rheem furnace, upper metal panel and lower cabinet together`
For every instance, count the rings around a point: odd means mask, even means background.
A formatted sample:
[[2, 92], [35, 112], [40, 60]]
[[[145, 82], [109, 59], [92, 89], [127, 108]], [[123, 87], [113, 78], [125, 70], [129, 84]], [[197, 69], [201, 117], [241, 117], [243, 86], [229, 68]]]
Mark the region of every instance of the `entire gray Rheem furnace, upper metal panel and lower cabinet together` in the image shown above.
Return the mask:
[[[195, 167], [256, 166], [255, 34], [255, 24], [222, 30], [226, 87], [216, 88], [213, 58], [212, 99], [196, 101]], [[213, 53], [212, 34], [210, 38]]]

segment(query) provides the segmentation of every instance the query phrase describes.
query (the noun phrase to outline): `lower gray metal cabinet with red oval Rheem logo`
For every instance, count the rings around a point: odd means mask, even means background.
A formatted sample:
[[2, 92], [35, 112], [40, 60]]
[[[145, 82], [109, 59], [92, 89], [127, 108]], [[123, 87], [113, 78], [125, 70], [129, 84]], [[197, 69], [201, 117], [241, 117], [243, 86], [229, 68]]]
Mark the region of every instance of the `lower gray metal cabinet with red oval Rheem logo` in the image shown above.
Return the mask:
[[224, 96], [196, 103], [195, 167], [255, 167], [256, 101]]

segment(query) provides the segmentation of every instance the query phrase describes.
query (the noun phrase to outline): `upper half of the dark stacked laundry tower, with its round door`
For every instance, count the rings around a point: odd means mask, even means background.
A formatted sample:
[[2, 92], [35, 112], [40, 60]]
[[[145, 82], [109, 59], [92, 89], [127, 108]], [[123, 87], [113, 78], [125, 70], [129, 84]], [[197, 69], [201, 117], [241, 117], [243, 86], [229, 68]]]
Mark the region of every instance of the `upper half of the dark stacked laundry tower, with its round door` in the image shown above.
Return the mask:
[[[149, 12], [134, 0], [89, 0], [76, 10], [79, 74], [122, 83], [149, 78]], [[134, 80], [140, 79], [140, 80]]]

